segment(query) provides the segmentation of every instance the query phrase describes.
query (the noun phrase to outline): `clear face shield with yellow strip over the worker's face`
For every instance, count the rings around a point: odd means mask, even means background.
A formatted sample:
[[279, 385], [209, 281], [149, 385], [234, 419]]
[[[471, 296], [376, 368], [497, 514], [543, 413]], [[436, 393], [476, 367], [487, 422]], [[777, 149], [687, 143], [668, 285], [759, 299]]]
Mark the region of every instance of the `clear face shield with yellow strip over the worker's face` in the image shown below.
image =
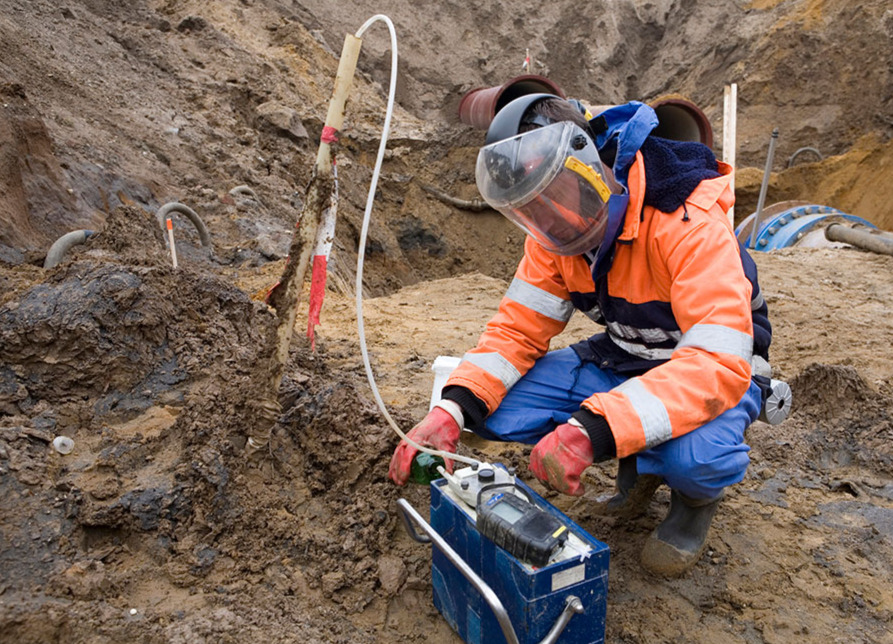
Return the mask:
[[481, 148], [475, 175], [488, 204], [559, 255], [598, 246], [608, 199], [623, 191], [592, 139], [569, 121]]

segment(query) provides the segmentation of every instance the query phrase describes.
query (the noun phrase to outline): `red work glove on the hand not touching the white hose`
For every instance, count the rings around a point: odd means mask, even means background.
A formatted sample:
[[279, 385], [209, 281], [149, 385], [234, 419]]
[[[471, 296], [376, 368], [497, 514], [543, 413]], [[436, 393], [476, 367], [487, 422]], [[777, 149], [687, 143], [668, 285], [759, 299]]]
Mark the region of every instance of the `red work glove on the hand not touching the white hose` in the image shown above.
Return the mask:
[[564, 423], [546, 434], [530, 452], [530, 471], [554, 490], [583, 494], [580, 475], [592, 465], [592, 442], [582, 427]]

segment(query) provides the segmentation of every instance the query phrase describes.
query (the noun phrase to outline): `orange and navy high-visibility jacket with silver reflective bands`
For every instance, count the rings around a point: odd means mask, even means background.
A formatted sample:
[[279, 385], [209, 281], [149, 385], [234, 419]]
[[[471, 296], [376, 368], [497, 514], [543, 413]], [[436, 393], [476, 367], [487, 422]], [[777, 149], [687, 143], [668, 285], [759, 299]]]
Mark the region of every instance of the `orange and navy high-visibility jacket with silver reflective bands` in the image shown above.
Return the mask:
[[[607, 420], [618, 457], [686, 434], [735, 406], [751, 380], [752, 311], [765, 311], [765, 304], [745, 275], [728, 220], [732, 169], [719, 163], [719, 173], [676, 212], [664, 213], [643, 206], [644, 163], [637, 153], [623, 228], [601, 286], [584, 256], [550, 253], [528, 237], [498, 313], [447, 386], [466, 387], [492, 413], [574, 310], [583, 309], [605, 324], [603, 342], [630, 361], [653, 365], [583, 402]], [[768, 355], [765, 347], [760, 353]], [[753, 364], [768, 375], [765, 361]], [[601, 366], [618, 367], [613, 361]]]

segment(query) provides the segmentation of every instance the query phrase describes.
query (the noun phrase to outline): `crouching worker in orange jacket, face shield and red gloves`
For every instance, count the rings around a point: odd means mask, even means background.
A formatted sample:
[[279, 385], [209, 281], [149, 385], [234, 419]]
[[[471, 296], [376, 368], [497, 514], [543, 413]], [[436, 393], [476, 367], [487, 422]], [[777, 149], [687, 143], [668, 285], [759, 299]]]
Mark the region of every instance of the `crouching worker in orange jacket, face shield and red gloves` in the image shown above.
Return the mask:
[[[643, 103], [595, 118], [584, 109], [531, 94], [490, 124], [478, 189], [527, 233], [524, 257], [409, 437], [455, 452], [467, 427], [535, 444], [531, 472], [570, 495], [584, 493], [588, 466], [619, 459], [598, 508], [640, 515], [668, 485], [641, 562], [678, 576], [700, 559], [723, 490], [749, 463], [744, 432], [770, 382], [767, 307], [729, 222], [731, 167], [701, 143], [653, 136], [657, 116]], [[604, 331], [548, 351], [576, 310]], [[397, 447], [395, 483], [415, 454]]]

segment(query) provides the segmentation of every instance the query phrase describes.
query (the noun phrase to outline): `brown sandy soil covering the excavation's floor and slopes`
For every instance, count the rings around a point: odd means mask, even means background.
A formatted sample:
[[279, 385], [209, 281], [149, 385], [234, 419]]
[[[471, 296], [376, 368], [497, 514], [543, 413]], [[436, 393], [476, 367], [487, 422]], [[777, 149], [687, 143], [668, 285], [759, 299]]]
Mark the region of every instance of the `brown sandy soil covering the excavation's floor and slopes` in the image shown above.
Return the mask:
[[[434, 358], [474, 344], [520, 255], [501, 216], [425, 186], [477, 196], [481, 133], [455, 106], [520, 73], [526, 47], [534, 71], [593, 103], [687, 95], [717, 141], [722, 85], [737, 82], [739, 220], [778, 127], [769, 203], [893, 228], [881, 0], [332, 4], [0, 0], [0, 641], [458, 641], [431, 601], [430, 550], [395, 512], [400, 496], [424, 508], [427, 490], [386, 479], [396, 437], [357, 341], [355, 249], [388, 78], [380, 27], [337, 148], [316, 350], [305, 304], [270, 450], [243, 455], [269, 395], [263, 294], [283, 270], [341, 40], [367, 15], [388, 13], [401, 44], [364, 291], [377, 382], [404, 428], [427, 409]], [[826, 158], [786, 168], [807, 145]], [[177, 217], [177, 271], [154, 220], [171, 201], [200, 213], [213, 242]], [[43, 269], [78, 228], [98, 234]], [[665, 489], [621, 523], [587, 504], [611, 489], [612, 464], [587, 472], [579, 500], [534, 483], [611, 548], [607, 642], [893, 642], [893, 258], [756, 260], [775, 375], [796, 403], [783, 425], [750, 429], [748, 477], [698, 566], [667, 581], [637, 563]], [[575, 318], [553, 347], [595, 331]], [[58, 435], [70, 454], [53, 449]], [[530, 480], [529, 448], [466, 438], [465, 453]]]

